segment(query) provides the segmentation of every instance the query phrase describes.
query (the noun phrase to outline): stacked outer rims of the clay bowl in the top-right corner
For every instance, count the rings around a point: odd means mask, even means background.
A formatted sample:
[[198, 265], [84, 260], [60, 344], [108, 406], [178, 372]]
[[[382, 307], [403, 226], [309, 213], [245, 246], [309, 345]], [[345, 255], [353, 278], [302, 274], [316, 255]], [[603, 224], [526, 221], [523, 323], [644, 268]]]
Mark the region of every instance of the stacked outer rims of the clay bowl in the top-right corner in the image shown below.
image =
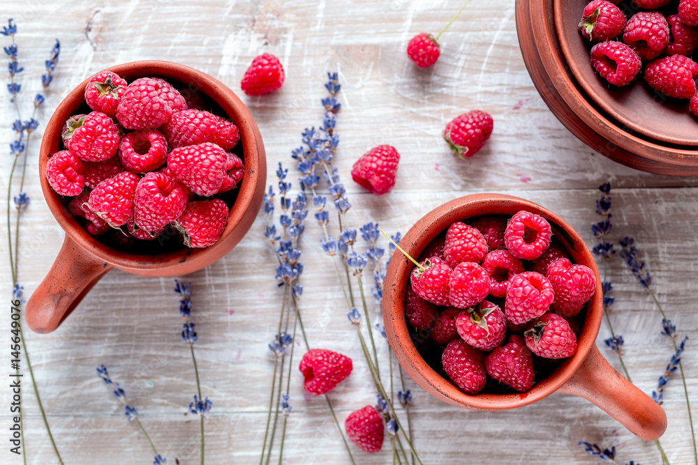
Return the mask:
[[516, 3], [521, 53], [549, 109], [582, 142], [615, 162], [654, 174], [698, 174], [698, 151], [652, 144], [619, 128], [588, 102], [567, 70], [555, 31], [552, 2], [517, 0]]

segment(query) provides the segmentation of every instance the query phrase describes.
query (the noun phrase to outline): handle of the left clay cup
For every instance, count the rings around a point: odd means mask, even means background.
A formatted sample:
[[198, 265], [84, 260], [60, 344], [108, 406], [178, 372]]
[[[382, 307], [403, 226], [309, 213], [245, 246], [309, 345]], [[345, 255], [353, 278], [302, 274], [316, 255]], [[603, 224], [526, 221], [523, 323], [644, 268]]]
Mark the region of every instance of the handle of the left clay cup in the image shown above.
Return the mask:
[[66, 236], [51, 270], [31, 294], [25, 310], [29, 328], [50, 333], [73, 312], [112, 265], [98, 260]]

